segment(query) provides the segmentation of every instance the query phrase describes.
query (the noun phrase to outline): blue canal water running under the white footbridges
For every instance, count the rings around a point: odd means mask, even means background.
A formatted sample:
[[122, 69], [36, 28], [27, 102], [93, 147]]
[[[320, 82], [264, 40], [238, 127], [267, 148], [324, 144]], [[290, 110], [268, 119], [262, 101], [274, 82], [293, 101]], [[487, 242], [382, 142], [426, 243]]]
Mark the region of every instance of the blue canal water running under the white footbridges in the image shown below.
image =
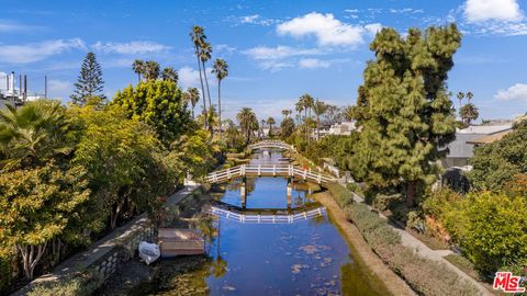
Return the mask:
[[[282, 155], [271, 150], [255, 155], [251, 163], [279, 161]], [[248, 179], [247, 209], [287, 209], [287, 182], [283, 178]], [[239, 183], [227, 184], [216, 198], [240, 206]], [[294, 186], [292, 207], [316, 206], [311, 194], [316, 187]], [[200, 282], [210, 295], [386, 295], [379, 280], [356, 262], [326, 215], [276, 225], [220, 218], [216, 225], [218, 238], [209, 250], [214, 271], [195, 275], [204, 277]], [[160, 294], [172, 295], [170, 291]]]

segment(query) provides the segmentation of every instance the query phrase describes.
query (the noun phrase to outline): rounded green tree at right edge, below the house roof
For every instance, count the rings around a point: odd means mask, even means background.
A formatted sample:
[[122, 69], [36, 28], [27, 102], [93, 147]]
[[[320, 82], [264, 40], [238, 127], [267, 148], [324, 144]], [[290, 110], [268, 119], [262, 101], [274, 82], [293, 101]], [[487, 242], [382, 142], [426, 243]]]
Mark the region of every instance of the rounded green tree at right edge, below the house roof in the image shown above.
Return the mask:
[[501, 140], [474, 149], [468, 177], [476, 190], [501, 191], [514, 175], [527, 172], [527, 125], [517, 125]]

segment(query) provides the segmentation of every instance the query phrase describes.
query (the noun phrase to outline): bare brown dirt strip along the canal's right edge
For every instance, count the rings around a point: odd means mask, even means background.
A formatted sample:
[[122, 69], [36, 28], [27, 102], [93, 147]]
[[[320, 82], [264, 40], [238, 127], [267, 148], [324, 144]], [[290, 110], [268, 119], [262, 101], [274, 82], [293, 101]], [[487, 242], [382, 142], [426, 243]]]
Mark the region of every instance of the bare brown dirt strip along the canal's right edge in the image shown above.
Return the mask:
[[367, 265], [372, 274], [379, 277], [386, 286], [386, 289], [393, 295], [416, 295], [406, 282], [384, 265], [381, 259], [371, 250], [368, 242], [362, 238], [359, 229], [346, 219], [346, 214], [328, 193], [316, 193], [313, 196], [327, 208], [330, 219], [345, 235], [354, 249], [352, 252], [356, 253], [358, 255], [357, 259], [361, 261], [359, 264]]

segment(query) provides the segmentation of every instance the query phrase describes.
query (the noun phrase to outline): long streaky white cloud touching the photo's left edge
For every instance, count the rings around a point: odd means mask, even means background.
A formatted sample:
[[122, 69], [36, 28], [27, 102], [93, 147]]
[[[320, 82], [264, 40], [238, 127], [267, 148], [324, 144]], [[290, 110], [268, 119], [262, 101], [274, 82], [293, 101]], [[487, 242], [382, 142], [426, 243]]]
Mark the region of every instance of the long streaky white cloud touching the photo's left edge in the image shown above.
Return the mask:
[[8, 64], [27, 64], [46, 59], [70, 49], [85, 49], [80, 38], [53, 39], [24, 45], [1, 45], [0, 61]]

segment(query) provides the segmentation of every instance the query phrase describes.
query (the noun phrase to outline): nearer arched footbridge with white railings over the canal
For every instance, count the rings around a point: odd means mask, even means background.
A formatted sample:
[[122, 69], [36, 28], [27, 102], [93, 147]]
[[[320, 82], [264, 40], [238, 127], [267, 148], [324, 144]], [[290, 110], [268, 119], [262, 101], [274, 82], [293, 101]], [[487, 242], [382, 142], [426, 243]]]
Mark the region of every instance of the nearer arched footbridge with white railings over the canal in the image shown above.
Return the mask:
[[317, 184], [330, 184], [337, 180], [321, 172], [312, 172], [291, 164], [242, 164], [210, 173], [205, 181], [210, 184], [224, 183], [240, 177], [285, 177], [292, 180], [304, 180]]

